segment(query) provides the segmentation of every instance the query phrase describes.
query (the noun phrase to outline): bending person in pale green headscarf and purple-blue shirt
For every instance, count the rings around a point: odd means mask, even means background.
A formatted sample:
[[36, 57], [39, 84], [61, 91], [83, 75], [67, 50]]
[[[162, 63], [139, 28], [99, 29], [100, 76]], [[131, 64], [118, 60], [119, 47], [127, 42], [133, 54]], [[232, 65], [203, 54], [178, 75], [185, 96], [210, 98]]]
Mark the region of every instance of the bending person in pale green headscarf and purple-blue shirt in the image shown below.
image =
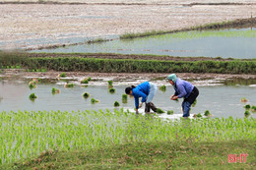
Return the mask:
[[173, 85], [175, 93], [170, 96], [171, 100], [177, 100], [178, 98], [184, 98], [182, 102], [183, 117], [189, 117], [189, 111], [191, 105], [199, 95], [199, 90], [196, 86], [190, 84], [187, 81], [178, 79], [175, 74], [171, 74], [167, 77], [170, 85]]

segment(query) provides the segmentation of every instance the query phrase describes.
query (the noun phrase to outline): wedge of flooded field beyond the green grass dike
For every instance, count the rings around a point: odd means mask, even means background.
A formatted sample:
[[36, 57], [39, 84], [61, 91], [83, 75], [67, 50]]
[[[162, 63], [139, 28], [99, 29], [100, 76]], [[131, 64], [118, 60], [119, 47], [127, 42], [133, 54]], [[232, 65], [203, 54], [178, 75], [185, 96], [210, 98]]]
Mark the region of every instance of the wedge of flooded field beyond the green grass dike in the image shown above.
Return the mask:
[[181, 57], [256, 58], [256, 28], [184, 31], [134, 39], [81, 44], [55, 49], [32, 50], [48, 53], [155, 54]]

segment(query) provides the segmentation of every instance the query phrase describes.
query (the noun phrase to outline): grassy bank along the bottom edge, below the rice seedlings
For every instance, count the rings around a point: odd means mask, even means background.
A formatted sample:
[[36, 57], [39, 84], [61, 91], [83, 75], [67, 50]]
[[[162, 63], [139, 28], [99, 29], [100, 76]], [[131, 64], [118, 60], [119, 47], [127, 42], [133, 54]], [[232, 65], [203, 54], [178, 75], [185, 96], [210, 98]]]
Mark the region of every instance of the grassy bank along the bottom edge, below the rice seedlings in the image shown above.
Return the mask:
[[[247, 153], [228, 163], [228, 154]], [[130, 142], [99, 149], [42, 152], [4, 169], [253, 169], [256, 142]]]

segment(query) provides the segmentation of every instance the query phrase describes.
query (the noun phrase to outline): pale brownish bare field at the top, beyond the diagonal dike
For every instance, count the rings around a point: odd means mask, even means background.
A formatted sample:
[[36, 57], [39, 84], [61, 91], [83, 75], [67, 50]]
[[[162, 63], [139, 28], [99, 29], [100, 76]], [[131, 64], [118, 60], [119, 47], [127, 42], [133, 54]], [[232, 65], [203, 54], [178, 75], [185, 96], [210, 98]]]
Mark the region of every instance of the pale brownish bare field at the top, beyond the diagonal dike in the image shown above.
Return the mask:
[[0, 49], [70, 44], [84, 42], [89, 38], [117, 36], [126, 32], [190, 28], [256, 16], [256, 4], [183, 6], [194, 2], [252, 3], [252, 0], [63, 0], [57, 2], [129, 2], [150, 5], [0, 4]]

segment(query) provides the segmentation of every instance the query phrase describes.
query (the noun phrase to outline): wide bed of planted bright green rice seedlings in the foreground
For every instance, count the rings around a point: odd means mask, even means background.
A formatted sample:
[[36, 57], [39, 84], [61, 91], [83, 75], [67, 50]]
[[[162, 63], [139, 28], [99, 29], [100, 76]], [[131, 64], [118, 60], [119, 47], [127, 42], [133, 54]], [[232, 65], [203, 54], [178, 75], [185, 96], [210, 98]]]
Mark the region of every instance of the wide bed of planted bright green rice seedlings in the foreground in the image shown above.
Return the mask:
[[[256, 140], [253, 118], [165, 121], [113, 111], [0, 112], [0, 165], [24, 160], [50, 149], [102, 149], [131, 142], [233, 142]], [[186, 124], [187, 126], [187, 124]]]

